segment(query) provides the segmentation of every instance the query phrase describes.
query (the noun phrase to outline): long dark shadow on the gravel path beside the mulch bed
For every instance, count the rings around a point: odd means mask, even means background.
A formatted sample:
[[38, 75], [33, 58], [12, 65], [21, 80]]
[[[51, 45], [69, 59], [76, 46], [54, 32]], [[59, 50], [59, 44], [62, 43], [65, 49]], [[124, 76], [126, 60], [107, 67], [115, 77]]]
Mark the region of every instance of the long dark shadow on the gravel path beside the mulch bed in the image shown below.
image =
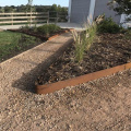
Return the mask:
[[48, 67], [57, 60], [57, 58], [66, 50], [67, 46], [70, 46], [72, 41], [73, 39], [68, 41], [64, 46], [58, 49], [58, 51], [56, 51], [43, 63], [38, 64], [36, 68], [31, 70], [28, 73], [23, 73], [23, 76], [21, 79], [13, 82], [12, 87], [15, 87], [25, 92], [35, 93], [35, 81], [37, 80], [37, 78], [43, 73], [43, 71], [47, 70]]

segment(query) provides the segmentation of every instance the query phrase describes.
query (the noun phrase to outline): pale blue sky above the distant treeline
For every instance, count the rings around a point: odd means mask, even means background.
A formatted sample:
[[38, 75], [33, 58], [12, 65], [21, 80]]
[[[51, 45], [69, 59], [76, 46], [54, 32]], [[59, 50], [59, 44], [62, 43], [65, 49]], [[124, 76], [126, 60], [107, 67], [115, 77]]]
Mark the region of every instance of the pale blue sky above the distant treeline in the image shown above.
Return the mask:
[[[4, 5], [21, 5], [26, 4], [28, 0], [0, 0], [0, 7]], [[37, 5], [52, 5], [53, 3], [61, 7], [68, 7], [69, 0], [33, 0], [33, 4]]]

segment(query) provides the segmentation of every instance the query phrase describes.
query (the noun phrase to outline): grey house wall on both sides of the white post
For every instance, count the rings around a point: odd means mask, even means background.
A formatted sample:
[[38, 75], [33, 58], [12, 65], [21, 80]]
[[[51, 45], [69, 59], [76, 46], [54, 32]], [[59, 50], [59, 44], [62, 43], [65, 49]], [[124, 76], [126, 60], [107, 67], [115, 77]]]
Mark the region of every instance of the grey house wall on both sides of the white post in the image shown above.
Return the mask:
[[[92, 0], [72, 0], [71, 3], [71, 13], [70, 22], [83, 23], [87, 20], [90, 14], [90, 7]], [[120, 23], [120, 15], [116, 15], [116, 12], [109, 10], [107, 5], [109, 0], [96, 0], [94, 9], [94, 19], [100, 14], [104, 14], [109, 17], [111, 16], [115, 22]]]

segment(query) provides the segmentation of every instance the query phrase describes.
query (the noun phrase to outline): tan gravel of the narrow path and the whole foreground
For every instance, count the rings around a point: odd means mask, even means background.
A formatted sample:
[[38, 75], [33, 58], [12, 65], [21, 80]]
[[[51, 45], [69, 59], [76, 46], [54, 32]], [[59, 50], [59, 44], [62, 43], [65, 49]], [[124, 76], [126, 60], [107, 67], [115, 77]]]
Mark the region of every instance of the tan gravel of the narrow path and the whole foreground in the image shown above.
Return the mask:
[[52, 94], [33, 93], [43, 61], [50, 62], [49, 55], [68, 40], [58, 38], [44, 44], [45, 56], [40, 46], [0, 63], [0, 131], [131, 131], [131, 70]]

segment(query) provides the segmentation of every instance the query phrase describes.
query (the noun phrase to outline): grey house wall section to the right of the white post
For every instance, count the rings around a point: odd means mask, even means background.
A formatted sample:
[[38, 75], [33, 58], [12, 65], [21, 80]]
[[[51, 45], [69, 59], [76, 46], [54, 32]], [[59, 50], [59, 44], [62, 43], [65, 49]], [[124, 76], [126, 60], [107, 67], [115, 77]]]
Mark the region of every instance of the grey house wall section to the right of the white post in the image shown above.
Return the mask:
[[115, 22], [120, 23], [120, 15], [116, 15], [114, 10], [109, 10], [109, 5], [107, 5], [109, 0], [96, 0], [95, 13], [94, 17], [99, 14], [105, 14], [107, 17], [111, 16]]

